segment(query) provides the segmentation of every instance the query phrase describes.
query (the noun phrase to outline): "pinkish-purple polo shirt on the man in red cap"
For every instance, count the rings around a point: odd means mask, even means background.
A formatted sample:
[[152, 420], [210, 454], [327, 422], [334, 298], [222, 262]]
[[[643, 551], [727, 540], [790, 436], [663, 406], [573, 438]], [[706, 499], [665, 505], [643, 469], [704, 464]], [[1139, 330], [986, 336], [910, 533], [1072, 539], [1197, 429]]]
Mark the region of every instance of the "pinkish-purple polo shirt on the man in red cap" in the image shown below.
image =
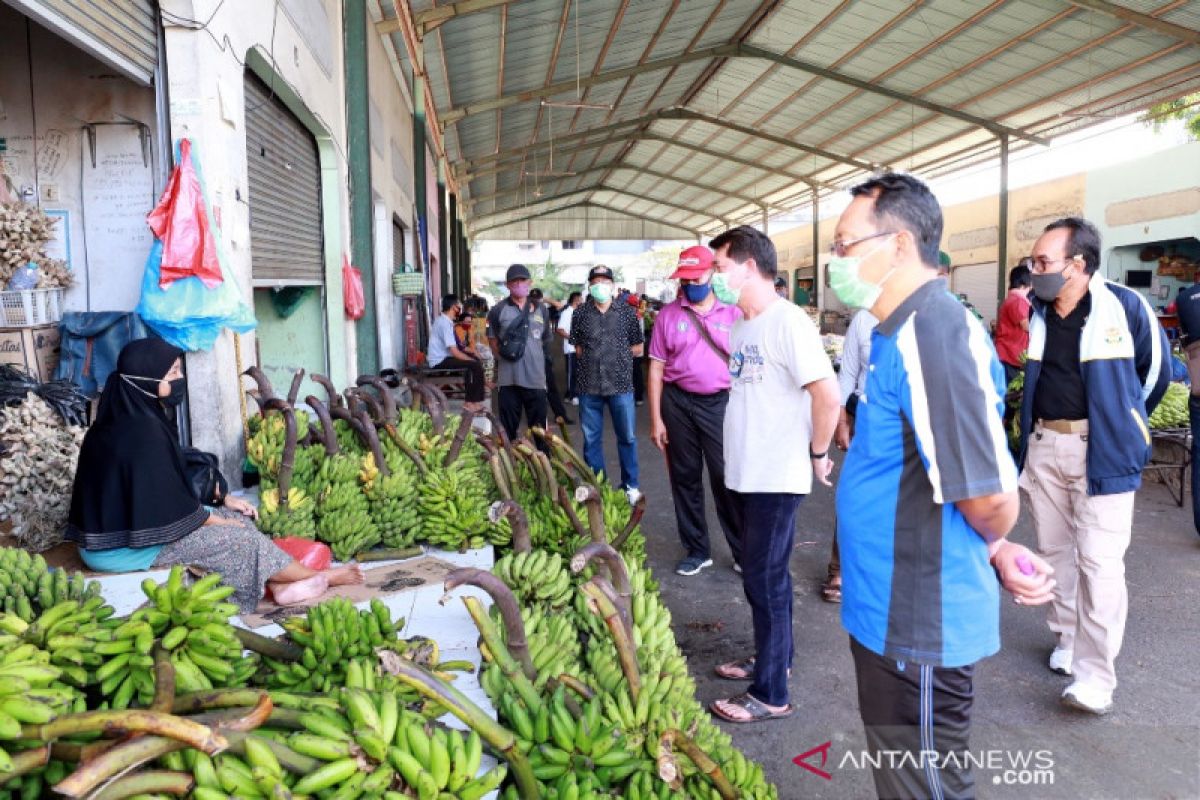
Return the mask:
[[[684, 391], [696, 395], [725, 391], [730, 387], [730, 365], [696, 330], [683, 309], [690, 305], [680, 297], [659, 312], [650, 335], [650, 357], [665, 365], [662, 380]], [[730, 332], [733, 323], [742, 319], [742, 309], [716, 300], [708, 312], [694, 311], [713, 339], [728, 350]]]

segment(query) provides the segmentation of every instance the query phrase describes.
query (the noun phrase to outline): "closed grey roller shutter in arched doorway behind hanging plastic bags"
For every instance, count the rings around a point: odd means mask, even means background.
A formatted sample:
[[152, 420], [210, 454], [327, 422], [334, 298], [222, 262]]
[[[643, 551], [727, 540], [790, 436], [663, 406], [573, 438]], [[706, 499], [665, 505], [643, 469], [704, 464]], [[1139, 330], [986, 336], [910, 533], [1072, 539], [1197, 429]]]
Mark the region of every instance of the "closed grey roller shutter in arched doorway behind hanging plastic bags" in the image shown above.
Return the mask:
[[250, 248], [258, 285], [325, 281], [317, 140], [259, 78], [246, 73]]

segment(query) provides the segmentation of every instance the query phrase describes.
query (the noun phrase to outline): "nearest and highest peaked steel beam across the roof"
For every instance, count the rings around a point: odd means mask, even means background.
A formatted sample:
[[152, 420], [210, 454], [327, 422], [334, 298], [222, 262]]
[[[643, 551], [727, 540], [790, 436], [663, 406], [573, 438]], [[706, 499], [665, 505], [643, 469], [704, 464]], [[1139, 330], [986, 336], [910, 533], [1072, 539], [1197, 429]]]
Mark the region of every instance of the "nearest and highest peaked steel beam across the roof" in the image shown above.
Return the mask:
[[[1091, 0], [1088, 0], [1091, 1]], [[620, 70], [610, 70], [607, 72], [600, 72], [594, 76], [588, 76], [578, 82], [576, 80], [562, 80], [554, 84], [547, 84], [545, 86], [539, 86], [536, 89], [528, 89], [526, 91], [512, 92], [508, 95], [500, 95], [499, 97], [493, 97], [492, 100], [480, 101], [478, 103], [468, 103], [458, 108], [448, 109], [440, 115], [443, 125], [450, 125], [457, 122], [458, 120], [469, 116], [472, 114], [480, 114], [482, 112], [492, 112], [498, 108], [508, 108], [509, 106], [516, 106], [518, 103], [524, 103], [532, 100], [539, 100], [542, 97], [552, 97], [554, 95], [560, 95], [568, 91], [574, 91], [576, 88], [586, 89], [595, 86], [598, 84], [608, 83], [612, 80], [623, 80], [625, 78], [631, 78], [634, 76], [643, 74], [647, 72], [654, 72], [656, 70], [667, 70], [671, 67], [677, 67], [684, 64], [690, 64], [692, 61], [703, 61], [708, 59], [728, 59], [728, 58], [750, 58], [750, 59], [763, 59], [779, 64], [781, 66], [791, 67], [793, 70], [799, 70], [802, 72], [808, 72], [815, 74], [826, 80], [832, 80], [834, 83], [845, 84], [847, 86], [853, 86], [874, 95], [882, 95], [884, 97], [890, 97], [892, 100], [898, 100], [918, 108], [924, 108], [952, 119], [961, 120], [970, 125], [982, 127], [986, 131], [991, 131], [995, 134], [1007, 133], [1010, 137], [1025, 139], [1033, 142], [1034, 144], [1048, 144], [1045, 139], [1036, 137], [1033, 134], [1026, 133], [1019, 128], [1012, 128], [1006, 125], [1001, 125], [995, 120], [976, 116], [974, 114], [968, 114], [967, 112], [961, 112], [952, 106], [943, 106], [941, 103], [935, 103], [932, 101], [925, 100], [924, 97], [918, 97], [916, 95], [910, 95], [907, 92], [898, 91], [895, 89], [888, 89], [878, 84], [874, 84], [870, 80], [863, 80], [860, 78], [854, 78], [845, 73], [830, 70], [828, 67], [822, 67], [809, 61], [803, 61], [790, 55], [784, 55], [782, 53], [774, 53], [754, 44], [719, 44], [716, 47], [702, 48], [698, 50], [690, 50], [688, 53], [680, 53], [679, 55], [671, 56], [668, 59], [656, 59], [654, 61], [646, 61], [644, 64], [635, 65], [631, 67], [623, 67]]]

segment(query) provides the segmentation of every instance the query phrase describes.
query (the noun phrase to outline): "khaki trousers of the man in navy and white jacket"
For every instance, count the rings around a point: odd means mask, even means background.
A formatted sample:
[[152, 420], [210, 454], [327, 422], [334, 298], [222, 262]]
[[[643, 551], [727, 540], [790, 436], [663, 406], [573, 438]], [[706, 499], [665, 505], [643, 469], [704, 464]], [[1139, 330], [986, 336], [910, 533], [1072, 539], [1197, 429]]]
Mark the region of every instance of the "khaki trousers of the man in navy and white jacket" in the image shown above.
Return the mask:
[[1133, 492], [1087, 494], [1087, 434], [1040, 425], [1030, 435], [1021, 473], [1038, 554], [1057, 582], [1048, 613], [1058, 646], [1074, 651], [1075, 679], [1112, 691], [1129, 599], [1124, 553], [1133, 528]]

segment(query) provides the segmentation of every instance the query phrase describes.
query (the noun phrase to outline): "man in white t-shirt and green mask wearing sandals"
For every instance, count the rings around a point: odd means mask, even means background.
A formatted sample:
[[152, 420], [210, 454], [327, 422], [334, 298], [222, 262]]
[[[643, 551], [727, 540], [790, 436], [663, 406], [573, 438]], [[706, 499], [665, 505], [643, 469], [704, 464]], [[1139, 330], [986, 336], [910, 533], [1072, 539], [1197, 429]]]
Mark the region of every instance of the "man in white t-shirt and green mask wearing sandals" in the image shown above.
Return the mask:
[[725, 486], [742, 506], [742, 582], [755, 654], [716, 668], [750, 687], [709, 708], [728, 722], [792, 714], [796, 510], [814, 475], [829, 486], [829, 445], [841, 407], [838, 380], [809, 315], [775, 294], [775, 246], [742, 225], [709, 242], [713, 291], [743, 319], [730, 338], [732, 386], [725, 413]]

